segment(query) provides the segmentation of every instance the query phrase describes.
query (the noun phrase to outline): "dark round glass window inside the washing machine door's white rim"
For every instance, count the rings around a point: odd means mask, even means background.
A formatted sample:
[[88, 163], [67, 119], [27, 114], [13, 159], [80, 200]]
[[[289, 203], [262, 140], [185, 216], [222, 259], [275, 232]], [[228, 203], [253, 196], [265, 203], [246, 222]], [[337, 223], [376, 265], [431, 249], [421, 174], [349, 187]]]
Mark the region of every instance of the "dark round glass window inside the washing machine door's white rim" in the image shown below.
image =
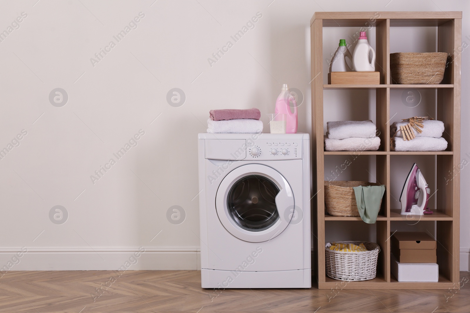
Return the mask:
[[243, 229], [268, 229], [279, 219], [276, 207], [279, 191], [276, 184], [265, 176], [245, 176], [228, 191], [227, 210], [235, 223]]

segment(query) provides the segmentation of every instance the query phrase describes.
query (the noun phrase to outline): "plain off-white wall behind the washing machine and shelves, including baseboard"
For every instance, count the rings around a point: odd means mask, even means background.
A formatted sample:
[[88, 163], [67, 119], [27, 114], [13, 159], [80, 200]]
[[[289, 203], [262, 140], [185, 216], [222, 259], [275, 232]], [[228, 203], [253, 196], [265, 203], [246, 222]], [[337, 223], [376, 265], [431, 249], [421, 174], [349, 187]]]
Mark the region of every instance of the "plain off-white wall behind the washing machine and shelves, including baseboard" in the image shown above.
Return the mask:
[[[210, 109], [272, 113], [282, 83], [303, 92], [299, 131], [311, 132], [309, 21], [315, 11], [462, 10], [462, 40], [470, 44], [470, 8], [463, 0], [36, 1], [2, 2], [0, 10], [0, 31], [27, 14], [0, 42], [0, 148], [27, 132], [0, 160], [0, 267], [28, 249], [12, 270], [114, 269], [139, 247], [145, 252], [132, 259], [132, 269], [196, 269], [197, 133], [205, 131]], [[145, 16], [136, 29], [120, 42], [113, 38], [140, 12]], [[262, 17], [254, 29], [234, 42], [230, 36], [257, 12]], [[110, 41], [116, 46], [92, 64]], [[233, 47], [210, 64], [227, 41]], [[462, 53], [462, 158], [470, 153], [469, 55]], [[62, 107], [49, 101], [55, 88], [68, 95]], [[180, 107], [166, 100], [172, 88], [186, 95]], [[325, 115], [340, 106], [332, 104]], [[145, 134], [118, 160], [113, 153], [139, 130]], [[111, 158], [116, 164], [92, 182]], [[461, 174], [461, 254], [468, 262], [470, 170]], [[66, 209], [65, 223], [51, 221], [54, 206]], [[182, 223], [168, 221], [172, 206], [184, 209]]]

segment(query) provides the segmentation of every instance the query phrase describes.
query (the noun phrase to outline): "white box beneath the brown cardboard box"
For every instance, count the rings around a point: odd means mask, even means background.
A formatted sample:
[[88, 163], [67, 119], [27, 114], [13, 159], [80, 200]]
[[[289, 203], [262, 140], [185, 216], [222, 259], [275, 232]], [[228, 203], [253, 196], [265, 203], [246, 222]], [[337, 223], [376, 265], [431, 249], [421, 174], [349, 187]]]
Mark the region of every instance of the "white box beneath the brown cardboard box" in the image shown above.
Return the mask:
[[437, 282], [439, 280], [437, 263], [400, 263], [392, 255], [391, 270], [399, 282]]

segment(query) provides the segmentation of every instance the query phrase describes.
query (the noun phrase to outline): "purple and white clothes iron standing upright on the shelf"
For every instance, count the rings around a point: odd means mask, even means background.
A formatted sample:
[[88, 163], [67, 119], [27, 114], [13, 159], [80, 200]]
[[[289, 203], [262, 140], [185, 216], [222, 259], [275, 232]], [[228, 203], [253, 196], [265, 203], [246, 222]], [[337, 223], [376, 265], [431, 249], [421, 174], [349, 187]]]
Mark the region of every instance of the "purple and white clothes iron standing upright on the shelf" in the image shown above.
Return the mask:
[[428, 208], [431, 189], [416, 163], [413, 163], [400, 194], [401, 214], [432, 214]]

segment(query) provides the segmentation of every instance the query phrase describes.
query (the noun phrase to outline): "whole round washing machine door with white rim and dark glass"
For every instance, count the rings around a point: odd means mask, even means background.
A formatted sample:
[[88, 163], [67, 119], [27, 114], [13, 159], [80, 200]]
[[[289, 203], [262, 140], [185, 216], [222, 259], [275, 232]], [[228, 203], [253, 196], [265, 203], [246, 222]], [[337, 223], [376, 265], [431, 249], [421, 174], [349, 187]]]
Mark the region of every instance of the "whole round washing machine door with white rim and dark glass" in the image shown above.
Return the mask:
[[225, 176], [215, 205], [228, 232], [244, 241], [263, 242], [289, 225], [294, 195], [287, 180], [274, 168], [247, 164]]

